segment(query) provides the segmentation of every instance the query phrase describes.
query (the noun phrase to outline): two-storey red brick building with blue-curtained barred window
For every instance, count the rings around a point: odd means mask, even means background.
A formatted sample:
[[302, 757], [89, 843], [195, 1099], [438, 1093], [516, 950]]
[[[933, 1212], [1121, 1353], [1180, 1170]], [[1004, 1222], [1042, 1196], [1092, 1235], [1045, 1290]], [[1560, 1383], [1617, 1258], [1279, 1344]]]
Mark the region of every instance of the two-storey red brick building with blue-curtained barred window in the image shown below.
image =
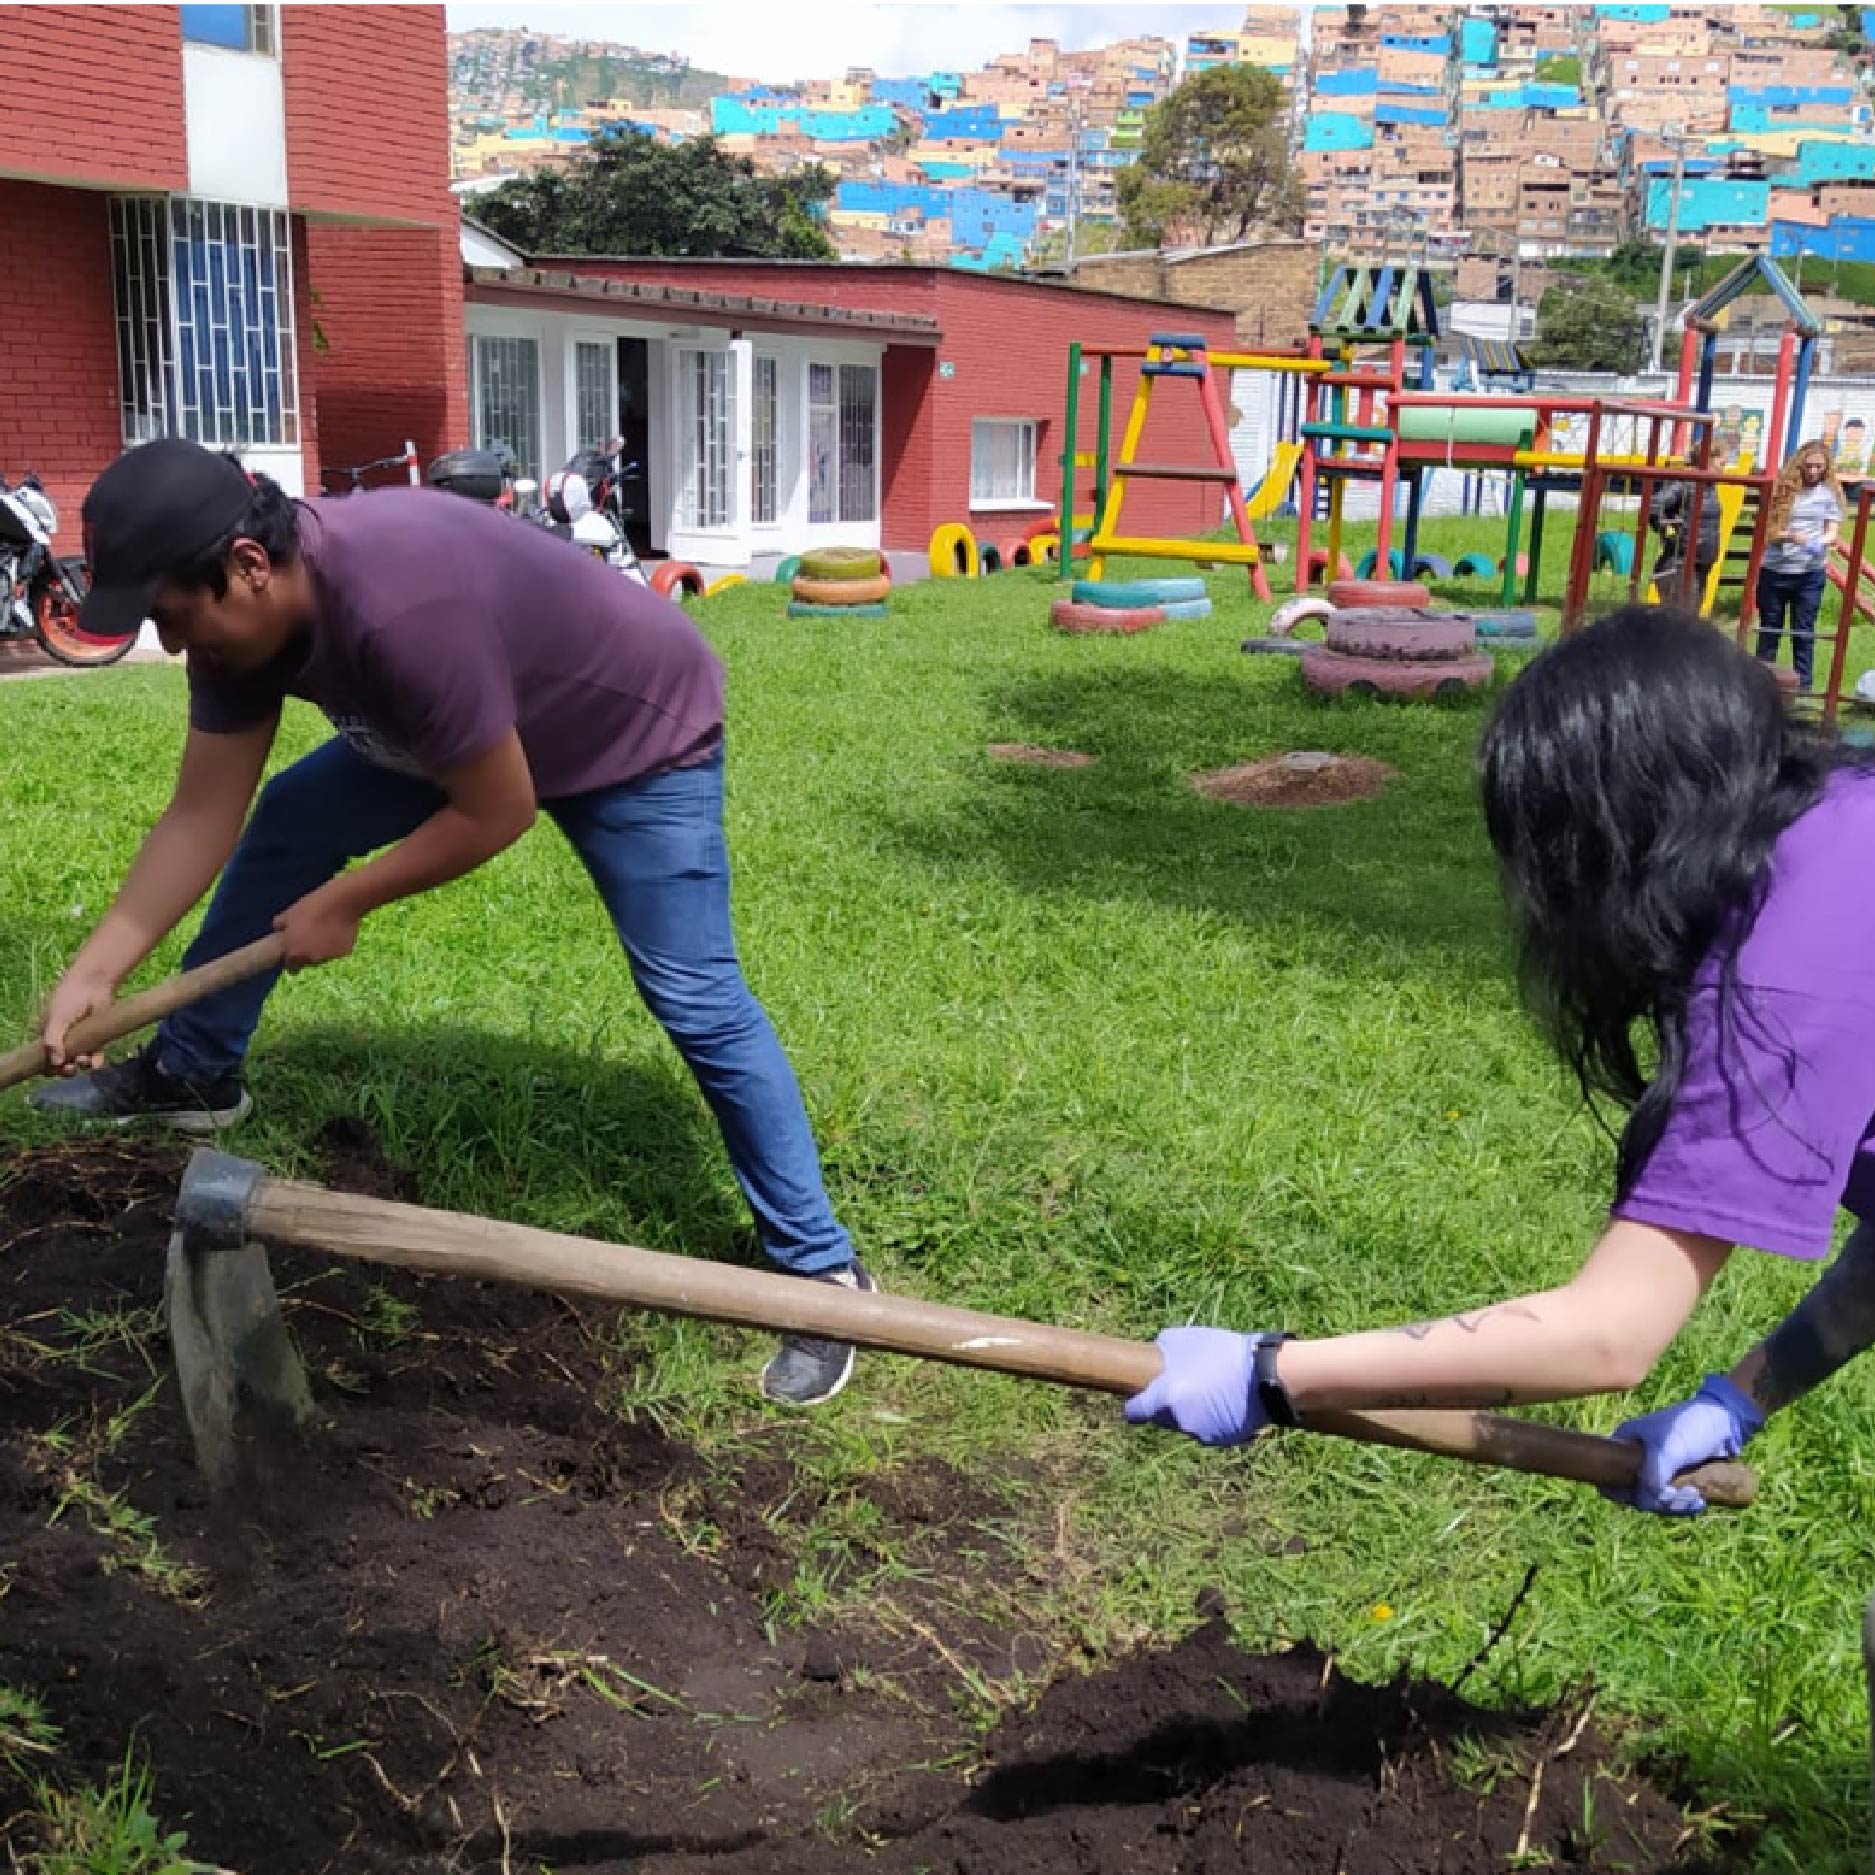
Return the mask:
[[439, 6], [0, 6], [0, 474], [467, 431]]

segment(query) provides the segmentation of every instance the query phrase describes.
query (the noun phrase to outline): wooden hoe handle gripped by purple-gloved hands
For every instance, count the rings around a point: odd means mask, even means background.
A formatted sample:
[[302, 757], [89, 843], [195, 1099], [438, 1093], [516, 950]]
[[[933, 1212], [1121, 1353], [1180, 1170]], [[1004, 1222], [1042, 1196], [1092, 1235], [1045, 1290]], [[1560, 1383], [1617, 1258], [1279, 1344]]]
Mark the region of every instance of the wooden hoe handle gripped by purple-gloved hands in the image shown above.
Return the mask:
[[[433, 1275], [523, 1282], [742, 1328], [829, 1335], [887, 1354], [990, 1367], [1099, 1393], [1138, 1393], [1161, 1367], [1159, 1350], [1144, 1341], [979, 1314], [909, 1296], [866, 1296], [832, 1282], [802, 1282], [765, 1269], [636, 1251], [285, 1179], [259, 1181], [248, 1206], [248, 1228], [268, 1243], [296, 1243]], [[1314, 1412], [1303, 1425], [1311, 1432], [1609, 1489], [1631, 1485], [1641, 1462], [1641, 1448], [1628, 1440], [1487, 1412]], [[1744, 1509], [1757, 1496], [1757, 1478], [1744, 1464], [1702, 1466], [1684, 1479], [1727, 1509]]]

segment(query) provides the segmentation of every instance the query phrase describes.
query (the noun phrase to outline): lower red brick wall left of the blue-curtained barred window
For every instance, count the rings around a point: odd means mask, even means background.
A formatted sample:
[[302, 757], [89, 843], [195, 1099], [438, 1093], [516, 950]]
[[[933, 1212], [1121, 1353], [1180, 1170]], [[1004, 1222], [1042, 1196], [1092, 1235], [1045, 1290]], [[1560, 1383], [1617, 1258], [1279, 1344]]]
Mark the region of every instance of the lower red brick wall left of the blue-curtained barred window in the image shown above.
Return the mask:
[[109, 199], [0, 180], [0, 474], [39, 472], [58, 549], [82, 551], [79, 502], [122, 448]]

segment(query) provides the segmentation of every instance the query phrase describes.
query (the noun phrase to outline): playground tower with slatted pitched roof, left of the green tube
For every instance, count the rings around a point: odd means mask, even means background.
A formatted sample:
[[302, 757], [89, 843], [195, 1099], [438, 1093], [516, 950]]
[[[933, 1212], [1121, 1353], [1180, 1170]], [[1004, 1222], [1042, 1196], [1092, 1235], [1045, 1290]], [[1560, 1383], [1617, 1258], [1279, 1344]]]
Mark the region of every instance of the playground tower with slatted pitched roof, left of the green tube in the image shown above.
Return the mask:
[[[1380, 488], [1374, 561], [1386, 578], [1393, 549], [1393, 510], [1402, 480], [1395, 401], [1406, 388], [1408, 371], [1419, 390], [1431, 388], [1436, 347], [1438, 306], [1432, 298], [1432, 276], [1425, 268], [1342, 266], [1322, 289], [1309, 319], [1309, 360], [1322, 369], [1307, 381], [1307, 407], [1299, 428], [1298, 592], [1307, 592], [1318, 564], [1312, 548], [1318, 489], [1328, 508], [1328, 553], [1320, 564], [1341, 566], [1342, 508], [1352, 480], [1371, 480]], [[1333, 356], [1328, 358], [1326, 352]], [[1404, 482], [1406, 551], [1401, 570], [1410, 576], [1418, 557], [1421, 486], [1418, 474], [1408, 474]]]

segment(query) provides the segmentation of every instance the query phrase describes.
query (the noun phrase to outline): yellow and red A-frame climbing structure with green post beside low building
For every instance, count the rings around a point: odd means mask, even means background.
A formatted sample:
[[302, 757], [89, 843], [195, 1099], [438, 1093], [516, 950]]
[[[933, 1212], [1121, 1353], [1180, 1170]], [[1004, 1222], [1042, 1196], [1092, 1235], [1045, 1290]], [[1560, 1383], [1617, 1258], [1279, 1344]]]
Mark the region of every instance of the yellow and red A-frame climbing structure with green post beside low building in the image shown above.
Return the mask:
[[[1095, 418], [1095, 446], [1084, 452], [1080, 448], [1080, 375], [1082, 362], [1093, 358], [1101, 362], [1099, 414]], [[1110, 456], [1116, 358], [1136, 358], [1140, 362], [1140, 381], [1132, 394], [1132, 407], [1127, 412], [1127, 428], [1121, 433], [1118, 458]], [[1230, 426], [1217, 394], [1215, 369], [1318, 375], [1329, 368], [1324, 360], [1303, 352], [1215, 352], [1209, 349], [1208, 339], [1189, 332], [1155, 332], [1144, 347], [1082, 345], [1080, 341], [1069, 345], [1067, 411], [1061, 429], [1061, 518], [1058, 527], [1063, 542], [1059, 555], [1063, 579], [1072, 578], [1072, 562], [1078, 551], [1089, 557], [1089, 572], [1095, 581], [1102, 578], [1110, 555], [1138, 555], [1142, 559], [1189, 561], [1196, 566], [1243, 566], [1251, 579], [1251, 591], [1262, 600], [1271, 598], [1269, 576], [1264, 572], [1264, 549], [1256, 540], [1254, 523], [1282, 504], [1296, 472], [1296, 463], [1305, 458], [1299, 444], [1277, 444], [1269, 472], [1256, 493], [1245, 501], [1238, 465], [1230, 454]], [[1204, 416], [1206, 437], [1211, 444], [1211, 461], [1162, 463], [1140, 459], [1138, 448], [1151, 414], [1153, 388], [1162, 379], [1196, 382], [1198, 407]], [[1082, 469], [1093, 471], [1093, 488], [1088, 510], [1076, 512], [1076, 476]], [[1129, 482], [1215, 484], [1224, 493], [1238, 538], [1176, 540], [1159, 534], [1121, 534], [1119, 523], [1125, 512]]]

